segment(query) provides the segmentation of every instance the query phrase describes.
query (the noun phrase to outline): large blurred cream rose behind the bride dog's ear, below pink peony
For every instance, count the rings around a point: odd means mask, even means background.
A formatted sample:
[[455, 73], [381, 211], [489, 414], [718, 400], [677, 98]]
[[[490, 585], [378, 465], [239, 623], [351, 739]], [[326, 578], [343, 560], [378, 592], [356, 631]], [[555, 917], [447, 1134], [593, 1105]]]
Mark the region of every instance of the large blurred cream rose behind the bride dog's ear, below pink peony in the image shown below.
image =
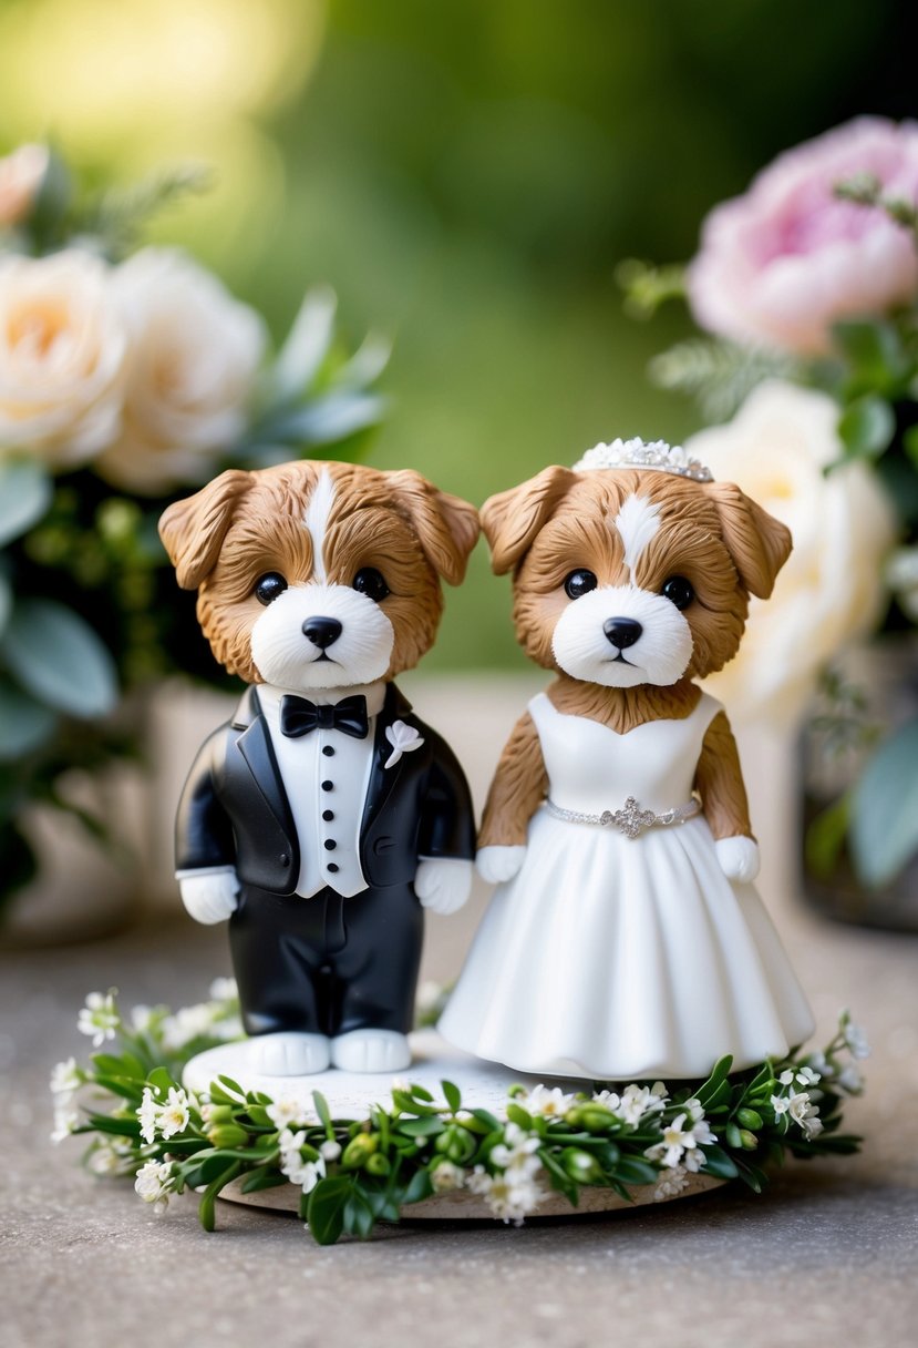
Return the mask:
[[732, 422], [686, 442], [715, 477], [742, 487], [794, 539], [771, 599], [750, 603], [739, 654], [708, 681], [738, 718], [800, 717], [825, 662], [880, 615], [895, 515], [864, 464], [824, 474], [841, 457], [837, 422], [828, 395], [771, 380]]

